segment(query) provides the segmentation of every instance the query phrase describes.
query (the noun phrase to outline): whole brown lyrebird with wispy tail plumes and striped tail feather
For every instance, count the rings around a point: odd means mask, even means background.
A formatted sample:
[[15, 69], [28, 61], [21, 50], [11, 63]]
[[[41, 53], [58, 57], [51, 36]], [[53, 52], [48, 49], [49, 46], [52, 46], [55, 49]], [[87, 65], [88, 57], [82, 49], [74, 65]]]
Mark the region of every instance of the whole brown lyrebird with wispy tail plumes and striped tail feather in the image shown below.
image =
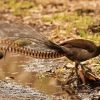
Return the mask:
[[[22, 23], [14, 22], [0, 22], [0, 36], [1, 38], [27, 38], [31, 41], [34, 41], [41, 47], [40, 50], [44, 51], [34, 51], [34, 46], [32, 50], [16, 47], [7, 47], [4, 48], [8, 51], [14, 51], [26, 55], [31, 55], [35, 58], [45, 58], [45, 59], [54, 59], [62, 56], [67, 57], [71, 61], [75, 62], [75, 70], [78, 76], [78, 66], [81, 65], [81, 62], [92, 59], [100, 55], [100, 45], [97, 46], [94, 42], [86, 39], [72, 39], [66, 40], [62, 43], [55, 43], [51, 40], [48, 40], [43, 34], [36, 31], [33, 27], [29, 25], [24, 25]], [[12, 38], [13, 37], [13, 38]], [[11, 45], [10, 45], [11, 46]], [[1, 50], [3, 48], [1, 47]], [[45, 50], [46, 49], [46, 50]], [[83, 67], [82, 67], [83, 68]]]

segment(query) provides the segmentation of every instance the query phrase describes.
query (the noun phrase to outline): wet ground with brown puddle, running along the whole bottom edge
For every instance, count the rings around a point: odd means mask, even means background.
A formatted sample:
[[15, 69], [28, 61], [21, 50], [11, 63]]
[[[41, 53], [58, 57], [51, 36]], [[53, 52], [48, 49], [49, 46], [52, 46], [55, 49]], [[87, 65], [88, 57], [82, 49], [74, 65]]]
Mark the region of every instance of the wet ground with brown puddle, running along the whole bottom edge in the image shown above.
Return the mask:
[[[65, 58], [37, 60], [23, 55], [7, 54], [0, 61], [0, 100], [98, 100], [99, 87], [88, 93], [76, 91], [78, 94], [69, 94], [66, 89], [62, 89], [56, 77], [58, 74], [61, 78], [63, 70], [56, 71], [55, 77], [49, 72], [43, 74], [50, 69], [64, 66], [66, 62]], [[70, 63], [67, 65], [73, 67]]]

